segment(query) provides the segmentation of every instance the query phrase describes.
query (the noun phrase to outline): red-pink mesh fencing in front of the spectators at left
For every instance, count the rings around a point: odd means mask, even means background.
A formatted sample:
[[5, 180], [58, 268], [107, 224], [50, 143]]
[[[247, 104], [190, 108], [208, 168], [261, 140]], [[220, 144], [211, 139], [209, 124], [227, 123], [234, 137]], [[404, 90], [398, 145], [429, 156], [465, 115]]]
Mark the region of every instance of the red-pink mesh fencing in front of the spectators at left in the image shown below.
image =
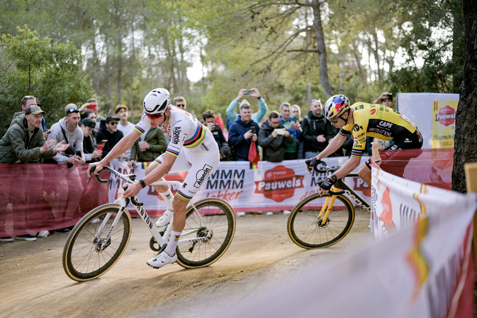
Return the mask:
[[[87, 181], [87, 165], [0, 164], [0, 237], [74, 226], [107, 203], [108, 185]], [[109, 173], [101, 174], [109, 179]]]

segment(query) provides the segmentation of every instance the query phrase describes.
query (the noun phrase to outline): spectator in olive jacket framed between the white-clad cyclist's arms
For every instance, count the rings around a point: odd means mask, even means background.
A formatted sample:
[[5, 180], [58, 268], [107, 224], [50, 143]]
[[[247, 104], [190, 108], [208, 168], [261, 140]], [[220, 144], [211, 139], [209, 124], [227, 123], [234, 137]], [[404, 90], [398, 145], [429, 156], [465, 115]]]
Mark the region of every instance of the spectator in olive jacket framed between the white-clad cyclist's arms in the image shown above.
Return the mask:
[[128, 165], [131, 167], [137, 161], [154, 161], [159, 155], [166, 151], [167, 143], [164, 133], [159, 127], [149, 127], [149, 129], [139, 137], [131, 147], [131, 157]]

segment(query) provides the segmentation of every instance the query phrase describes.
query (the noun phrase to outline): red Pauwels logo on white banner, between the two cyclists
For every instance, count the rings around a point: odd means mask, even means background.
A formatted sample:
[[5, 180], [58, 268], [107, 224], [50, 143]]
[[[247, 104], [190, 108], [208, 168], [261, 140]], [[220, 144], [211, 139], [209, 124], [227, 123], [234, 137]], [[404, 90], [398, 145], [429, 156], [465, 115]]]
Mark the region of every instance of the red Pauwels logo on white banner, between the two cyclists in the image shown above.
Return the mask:
[[262, 181], [255, 181], [255, 193], [282, 202], [295, 194], [295, 189], [303, 188], [303, 175], [295, 175], [293, 169], [277, 165], [267, 170]]

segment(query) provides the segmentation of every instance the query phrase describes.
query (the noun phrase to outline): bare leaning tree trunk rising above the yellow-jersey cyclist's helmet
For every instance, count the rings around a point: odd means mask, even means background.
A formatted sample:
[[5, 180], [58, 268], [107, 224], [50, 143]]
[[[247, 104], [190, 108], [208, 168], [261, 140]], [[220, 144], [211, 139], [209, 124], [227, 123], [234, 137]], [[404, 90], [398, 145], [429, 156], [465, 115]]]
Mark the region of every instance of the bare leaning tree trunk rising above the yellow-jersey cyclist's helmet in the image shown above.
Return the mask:
[[333, 95], [333, 90], [328, 80], [328, 66], [326, 62], [326, 45], [325, 36], [323, 34], [323, 27], [321, 26], [321, 8], [318, 0], [311, 0], [313, 7], [313, 28], [315, 29], [315, 36], [317, 41], [319, 68], [320, 68], [320, 84], [327, 96]]

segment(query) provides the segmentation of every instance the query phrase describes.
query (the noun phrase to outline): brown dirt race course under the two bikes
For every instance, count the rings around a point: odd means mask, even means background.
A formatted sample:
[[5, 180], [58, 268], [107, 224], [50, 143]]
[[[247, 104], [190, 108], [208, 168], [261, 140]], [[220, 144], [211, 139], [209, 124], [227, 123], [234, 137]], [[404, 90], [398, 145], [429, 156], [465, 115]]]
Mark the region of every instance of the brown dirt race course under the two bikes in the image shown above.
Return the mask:
[[148, 267], [145, 261], [155, 254], [148, 246], [151, 234], [142, 220], [133, 219], [124, 255], [102, 277], [86, 282], [75, 282], [63, 271], [66, 234], [0, 243], [0, 317], [211, 317], [372, 241], [369, 213], [363, 210], [356, 211], [351, 232], [324, 249], [293, 244], [287, 218], [237, 217], [224, 256], [197, 269]]

